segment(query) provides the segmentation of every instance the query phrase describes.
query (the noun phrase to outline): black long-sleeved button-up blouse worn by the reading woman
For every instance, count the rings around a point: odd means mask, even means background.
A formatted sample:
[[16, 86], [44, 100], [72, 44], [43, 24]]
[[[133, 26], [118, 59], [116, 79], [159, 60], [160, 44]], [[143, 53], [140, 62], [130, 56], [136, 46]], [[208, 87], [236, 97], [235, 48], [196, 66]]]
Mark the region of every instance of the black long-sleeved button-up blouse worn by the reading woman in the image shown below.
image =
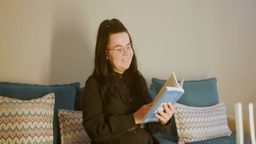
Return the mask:
[[[133, 113], [141, 106], [151, 103], [152, 98], [149, 93], [132, 94], [132, 89], [125, 83], [122, 74], [114, 73], [113, 79], [114, 94], [106, 96], [104, 100], [95, 76], [85, 83], [83, 126], [92, 140], [91, 143], [155, 143], [152, 135], [165, 132], [170, 122], [168, 125], [151, 122], [147, 123], [145, 129], [136, 129]], [[143, 88], [147, 89], [143, 76], [141, 79], [145, 83]]]

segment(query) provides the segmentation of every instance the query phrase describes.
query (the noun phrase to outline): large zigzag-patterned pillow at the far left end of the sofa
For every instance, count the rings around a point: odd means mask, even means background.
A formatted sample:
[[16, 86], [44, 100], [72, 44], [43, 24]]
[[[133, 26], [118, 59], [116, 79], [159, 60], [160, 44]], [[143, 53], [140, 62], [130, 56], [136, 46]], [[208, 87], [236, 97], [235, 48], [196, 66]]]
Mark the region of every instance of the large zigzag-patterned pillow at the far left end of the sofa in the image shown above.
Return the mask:
[[54, 93], [19, 100], [0, 96], [0, 143], [53, 143]]

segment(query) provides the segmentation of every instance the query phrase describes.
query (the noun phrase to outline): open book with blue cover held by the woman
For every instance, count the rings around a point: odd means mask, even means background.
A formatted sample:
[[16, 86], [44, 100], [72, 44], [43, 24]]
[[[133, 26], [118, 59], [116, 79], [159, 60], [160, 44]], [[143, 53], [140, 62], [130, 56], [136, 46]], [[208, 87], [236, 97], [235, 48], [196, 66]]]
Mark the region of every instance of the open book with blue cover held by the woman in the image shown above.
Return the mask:
[[164, 104], [167, 104], [168, 101], [170, 101], [172, 104], [175, 104], [176, 101], [181, 98], [184, 93], [184, 89], [182, 88], [183, 81], [184, 79], [178, 83], [174, 73], [172, 73], [169, 79], [165, 82], [165, 85], [159, 91], [158, 95], [155, 97], [153, 106], [143, 117], [142, 123], [159, 122], [159, 119], [155, 117], [155, 113], [158, 113], [158, 109], [164, 111], [163, 106]]

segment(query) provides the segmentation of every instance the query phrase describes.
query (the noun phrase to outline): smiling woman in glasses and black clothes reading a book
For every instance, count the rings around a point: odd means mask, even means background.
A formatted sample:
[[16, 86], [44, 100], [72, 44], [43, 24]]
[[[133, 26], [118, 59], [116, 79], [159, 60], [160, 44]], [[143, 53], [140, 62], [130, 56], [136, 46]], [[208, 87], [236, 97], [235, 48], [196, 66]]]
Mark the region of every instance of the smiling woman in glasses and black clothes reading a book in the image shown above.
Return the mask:
[[91, 143], [156, 143], [152, 136], [171, 123], [173, 106], [155, 115], [160, 122], [141, 124], [152, 106], [146, 80], [138, 71], [132, 40], [117, 19], [101, 23], [95, 68], [85, 83], [83, 125]]

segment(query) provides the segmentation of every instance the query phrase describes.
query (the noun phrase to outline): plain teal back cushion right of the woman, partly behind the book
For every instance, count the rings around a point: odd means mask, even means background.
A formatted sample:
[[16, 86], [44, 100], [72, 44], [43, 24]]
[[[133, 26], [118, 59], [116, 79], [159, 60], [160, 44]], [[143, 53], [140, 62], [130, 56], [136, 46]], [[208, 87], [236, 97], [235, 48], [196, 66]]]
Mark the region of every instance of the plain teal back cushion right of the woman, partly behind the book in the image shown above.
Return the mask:
[[[152, 84], [149, 91], [154, 99], [166, 80], [152, 78]], [[177, 101], [179, 104], [195, 107], [212, 106], [219, 103], [219, 96], [217, 92], [217, 79], [211, 78], [198, 81], [184, 81], [183, 89], [185, 93]], [[177, 128], [175, 118], [172, 116], [172, 126], [168, 131], [172, 136], [177, 136]], [[176, 141], [177, 142], [177, 141]]]

